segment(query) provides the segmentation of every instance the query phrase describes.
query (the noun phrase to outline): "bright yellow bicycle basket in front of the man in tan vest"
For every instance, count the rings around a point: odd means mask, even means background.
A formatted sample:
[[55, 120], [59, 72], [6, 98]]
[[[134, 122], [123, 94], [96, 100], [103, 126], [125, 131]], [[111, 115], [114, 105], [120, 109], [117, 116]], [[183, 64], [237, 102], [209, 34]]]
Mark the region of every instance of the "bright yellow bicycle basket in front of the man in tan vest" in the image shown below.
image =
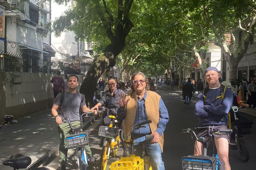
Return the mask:
[[144, 162], [139, 156], [124, 157], [112, 163], [110, 170], [142, 170], [144, 169]]

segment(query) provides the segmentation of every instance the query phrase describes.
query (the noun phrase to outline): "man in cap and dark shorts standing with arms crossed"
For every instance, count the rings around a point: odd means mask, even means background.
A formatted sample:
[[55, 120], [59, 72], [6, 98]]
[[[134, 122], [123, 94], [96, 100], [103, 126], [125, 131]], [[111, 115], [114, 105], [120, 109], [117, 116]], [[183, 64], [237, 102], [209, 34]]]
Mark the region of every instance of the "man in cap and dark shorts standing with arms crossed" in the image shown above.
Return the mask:
[[[208, 67], [205, 79], [209, 83], [209, 91], [204, 100], [203, 94], [198, 95], [195, 114], [199, 117], [198, 126], [211, 126], [213, 129], [228, 129], [228, 112], [233, 104], [233, 92], [226, 88], [225, 96], [220, 96], [220, 73], [215, 67]], [[200, 131], [200, 130], [199, 130]], [[206, 132], [207, 133], [207, 132]], [[203, 134], [204, 135], [204, 134]], [[218, 151], [221, 169], [230, 170], [228, 152], [230, 134], [213, 134]], [[199, 149], [200, 148], [200, 149]], [[202, 155], [202, 143], [196, 141], [194, 155]]]

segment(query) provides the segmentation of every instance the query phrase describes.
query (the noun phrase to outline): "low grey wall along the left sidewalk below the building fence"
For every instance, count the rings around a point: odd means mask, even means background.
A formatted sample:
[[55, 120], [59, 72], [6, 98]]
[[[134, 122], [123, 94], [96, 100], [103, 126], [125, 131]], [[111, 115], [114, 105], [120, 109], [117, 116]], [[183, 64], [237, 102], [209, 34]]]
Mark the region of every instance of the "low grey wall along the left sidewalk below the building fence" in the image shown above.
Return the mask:
[[[54, 74], [21, 73], [21, 83], [13, 84], [12, 73], [5, 72], [7, 80], [5, 83], [6, 107], [36, 103], [39, 100], [53, 98], [53, 85], [51, 83]], [[61, 75], [64, 78], [64, 75]], [[79, 91], [84, 80], [83, 75], [77, 75], [79, 79]]]

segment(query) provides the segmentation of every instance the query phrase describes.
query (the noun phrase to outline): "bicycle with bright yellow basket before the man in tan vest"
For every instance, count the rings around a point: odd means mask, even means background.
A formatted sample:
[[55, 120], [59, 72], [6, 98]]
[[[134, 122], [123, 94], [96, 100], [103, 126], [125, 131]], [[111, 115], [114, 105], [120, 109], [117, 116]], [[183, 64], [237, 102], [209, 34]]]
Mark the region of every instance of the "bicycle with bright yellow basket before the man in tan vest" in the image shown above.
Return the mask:
[[[139, 156], [134, 155], [134, 130], [137, 130], [145, 124], [152, 123], [151, 120], [138, 123], [136, 125], [133, 125], [131, 130], [131, 139], [130, 140], [124, 140], [124, 133], [123, 130], [120, 130], [121, 133], [121, 139], [130, 146], [131, 149], [131, 155], [130, 157], [123, 157], [120, 160], [117, 160], [115, 163], [112, 163], [109, 167], [110, 170], [152, 170], [152, 167], [150, 165], [150, 159], [147, 154], [147, 150], [145, 149], [145, 156], [143, 158], [140, 158]], [[145, 143], [151, 142], [153, 140], [153, 135], [145, 135], [146, 140]]]

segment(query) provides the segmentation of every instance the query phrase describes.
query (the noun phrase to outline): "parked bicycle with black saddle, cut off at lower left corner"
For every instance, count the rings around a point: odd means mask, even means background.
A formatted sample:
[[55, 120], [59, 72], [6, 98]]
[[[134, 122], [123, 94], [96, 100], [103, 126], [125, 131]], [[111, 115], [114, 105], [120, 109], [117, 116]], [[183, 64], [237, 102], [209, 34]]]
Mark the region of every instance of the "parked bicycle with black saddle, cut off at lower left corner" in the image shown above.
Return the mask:
[[[14, 117], [11, 116], [11, 115], [5, 115], [4, 116], [4, 121], [5, 122], [3, 122], [0, 125], [0, 129], [4, 125], [10, 125], [10, 124], [17, 124], [18, 123], [18, 121], [14, 120]], [[50, 158], [50, 156], [51, 156], [50, 153], [47, 152], [41, 158], [37, 159], [36, 162], [31, 164], [32, 160], [29, 156], [25, 156], [23, 154], [13, 154], [9, 159], [7, 159], [3, 162], [3, 165], [10, 166], [10, 167], [13, 168], [13, 170], [25, 169], [25, 168], [26, 168], [26, 170], [50, 170], [49, 168], [46, 168], [46, 167], [39, 167], [40, 165], [45, 163], [46, 160]]]

